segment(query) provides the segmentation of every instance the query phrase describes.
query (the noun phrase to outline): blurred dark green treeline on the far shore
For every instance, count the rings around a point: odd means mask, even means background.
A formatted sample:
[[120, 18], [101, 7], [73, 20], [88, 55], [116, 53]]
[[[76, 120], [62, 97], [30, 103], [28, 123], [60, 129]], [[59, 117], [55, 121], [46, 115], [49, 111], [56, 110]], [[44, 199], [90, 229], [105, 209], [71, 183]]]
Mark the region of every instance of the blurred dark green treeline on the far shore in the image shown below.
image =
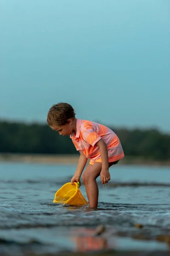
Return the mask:
[[[156, 129], [116, 129], [126, 156], [170, 159], [170, 135]], [[0, 121], [0, 153], [78, 154], [69, 136], [46, 124]]]

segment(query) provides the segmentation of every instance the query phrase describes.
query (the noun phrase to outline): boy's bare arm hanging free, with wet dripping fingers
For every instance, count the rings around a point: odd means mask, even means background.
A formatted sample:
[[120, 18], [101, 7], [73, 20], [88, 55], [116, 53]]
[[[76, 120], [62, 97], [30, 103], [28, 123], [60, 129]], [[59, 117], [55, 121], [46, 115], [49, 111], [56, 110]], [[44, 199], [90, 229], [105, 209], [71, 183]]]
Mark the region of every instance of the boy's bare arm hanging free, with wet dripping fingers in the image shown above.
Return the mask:
[[102, 170], [100, 172], [100, 179], [102, 184], [108, 183], [108, 180], [111, 179], [109, 173], [109, 160], [108, 160], [108, 147], [104, 140], [100, 139], [96, 145], [99, 147], [101, 159], [102, 159]]

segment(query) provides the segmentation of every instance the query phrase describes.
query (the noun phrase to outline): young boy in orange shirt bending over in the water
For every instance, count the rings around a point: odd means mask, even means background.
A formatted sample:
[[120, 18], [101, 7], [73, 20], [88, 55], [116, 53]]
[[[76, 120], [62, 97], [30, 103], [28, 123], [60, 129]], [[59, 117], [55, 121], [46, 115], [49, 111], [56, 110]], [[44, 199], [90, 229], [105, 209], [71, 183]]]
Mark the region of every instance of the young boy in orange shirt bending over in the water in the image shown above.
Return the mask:
[[88, 158], [90, 158], [90, 163], [82, 175], [82, 181], [85, 184], [89, 206], [92, 208], [97, 207], [99, 189], [96, 178], [100, 175], [102, 184], [108, 183], [111, 179], [109, 167], [118, 163], [124, 157], [119, 138], [104, 125], [75, 118], [72, 106], [64, 102], [53, 105], [50, 108], [47, 122], [60, 135], [70, 135], [80, 153], [77, 169], [71, 179], [71, 184], [74, 185], [74, 182], [80, 182], [82, 172]]

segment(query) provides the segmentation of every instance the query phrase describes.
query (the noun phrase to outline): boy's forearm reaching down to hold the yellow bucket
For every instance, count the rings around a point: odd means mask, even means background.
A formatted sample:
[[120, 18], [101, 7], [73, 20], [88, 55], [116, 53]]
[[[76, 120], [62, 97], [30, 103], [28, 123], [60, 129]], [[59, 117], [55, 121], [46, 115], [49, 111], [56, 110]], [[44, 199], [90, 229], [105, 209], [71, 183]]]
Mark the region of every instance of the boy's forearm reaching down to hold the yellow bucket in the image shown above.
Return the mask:
[[82, 175], [82, 172], [85, 168], [85, 165], [87, 163], [87, 157], [85, 157], [84, 153], [79, 150], [79, 153], [80, 153], [80, 156], [79, 156], [79, 161], [78, 161], [78, 165], [77, 165], [77, 169], [76, 169], [76, 172], [74, 174], [74, 176], [72, 177], [71, 179], [71, 184], [74, 185], [74, 182], [78, 182], [81, 175]]

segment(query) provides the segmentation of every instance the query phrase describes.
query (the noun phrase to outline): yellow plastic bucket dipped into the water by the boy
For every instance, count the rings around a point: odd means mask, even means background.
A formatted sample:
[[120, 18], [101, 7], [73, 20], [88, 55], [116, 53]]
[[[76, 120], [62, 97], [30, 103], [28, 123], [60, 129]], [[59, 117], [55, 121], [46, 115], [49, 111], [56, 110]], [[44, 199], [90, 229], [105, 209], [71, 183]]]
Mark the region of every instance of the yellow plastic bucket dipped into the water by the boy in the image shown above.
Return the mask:
[[70, 205], [88, 205], [88, 202], [85, 200], [82, 195], [79, 185], [74, 182], [74, 185], [71, 185], [71, 182], [63, 185], [55, 194], [53, 203], [61, 204], [70, 204]]

